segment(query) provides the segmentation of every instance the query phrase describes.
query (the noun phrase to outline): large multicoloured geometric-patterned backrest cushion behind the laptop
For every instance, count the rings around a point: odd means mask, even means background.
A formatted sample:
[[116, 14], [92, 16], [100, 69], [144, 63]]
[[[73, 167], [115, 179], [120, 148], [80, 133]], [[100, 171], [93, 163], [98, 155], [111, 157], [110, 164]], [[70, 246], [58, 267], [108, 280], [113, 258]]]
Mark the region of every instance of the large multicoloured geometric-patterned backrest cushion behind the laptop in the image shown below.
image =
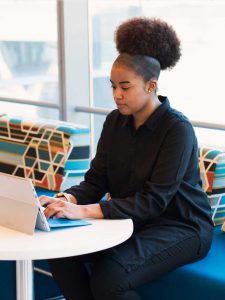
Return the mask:
[[89, 129], [67, 122], [0, 118], [0, 171], [59, 191], [82, 179], [90, 160]]

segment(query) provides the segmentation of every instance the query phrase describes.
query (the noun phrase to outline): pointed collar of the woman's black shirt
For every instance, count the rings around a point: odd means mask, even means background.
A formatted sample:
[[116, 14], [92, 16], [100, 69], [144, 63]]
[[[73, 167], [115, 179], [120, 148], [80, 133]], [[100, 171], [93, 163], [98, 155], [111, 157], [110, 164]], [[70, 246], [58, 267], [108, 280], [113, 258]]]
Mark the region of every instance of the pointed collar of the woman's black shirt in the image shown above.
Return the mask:
[[[169, 110], [170, 103], [167, 97], [158, 96], [159, 101], [162, 103], [157, 109], [151, 114], [151, 116], [145, 121], [142, 126], [146, 126], [149, 130], [154, 130], [154, 128], [161, 121], [163, 114]], [[121, 127], [125, 125], [133, 126], [133, 116], [125, 116], [121, 124]]]

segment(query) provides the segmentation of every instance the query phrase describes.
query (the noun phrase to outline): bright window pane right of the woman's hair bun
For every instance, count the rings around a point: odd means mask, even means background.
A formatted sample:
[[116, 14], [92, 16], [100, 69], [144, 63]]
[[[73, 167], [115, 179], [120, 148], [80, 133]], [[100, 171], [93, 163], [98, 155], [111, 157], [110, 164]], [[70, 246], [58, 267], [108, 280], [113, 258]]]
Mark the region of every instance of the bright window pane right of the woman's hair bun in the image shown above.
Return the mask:
[[[225, 2], [211, 0], [142, 1], [146, 16], [174, 26], [182, 43], [182, 57], [170, 72], [162, 72], [160, 93], [192, 120], [225, 123], [223, 70], [225, 68]], [[148, 13], [149, 12], [149, 13]]]

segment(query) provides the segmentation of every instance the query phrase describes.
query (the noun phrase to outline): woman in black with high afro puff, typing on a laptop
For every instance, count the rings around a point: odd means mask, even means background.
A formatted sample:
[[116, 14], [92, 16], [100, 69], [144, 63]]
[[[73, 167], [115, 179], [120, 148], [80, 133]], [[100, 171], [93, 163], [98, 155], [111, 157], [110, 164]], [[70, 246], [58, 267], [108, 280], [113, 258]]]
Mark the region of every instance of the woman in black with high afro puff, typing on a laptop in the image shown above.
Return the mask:
[[[212, 239], [192, 125], [157, 96], [160, 71], [180, 58], [176, 33], [161, 20], [134, 18], [115, 39], [110, 81], [118, 109], [106, 118], [85, 180], [41, 203], [47, 217], [132, 218], [134, 233], [109, 250], [49, 261], [66, 299], [140, 299], [136, 287], [201, 259]], [[99, 203], [106, 192], [110, 201]]]

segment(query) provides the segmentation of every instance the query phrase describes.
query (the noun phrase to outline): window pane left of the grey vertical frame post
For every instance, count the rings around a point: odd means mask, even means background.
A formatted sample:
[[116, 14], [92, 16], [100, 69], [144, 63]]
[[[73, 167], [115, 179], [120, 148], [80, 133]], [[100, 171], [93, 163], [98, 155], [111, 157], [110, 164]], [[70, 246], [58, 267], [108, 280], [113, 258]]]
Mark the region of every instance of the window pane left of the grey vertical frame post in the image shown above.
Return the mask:
[[[0, 97], [58, 103], [56, 1], [0, 1]], [[40, 116], [43, 109], [1, 102], [1, 112]]]

